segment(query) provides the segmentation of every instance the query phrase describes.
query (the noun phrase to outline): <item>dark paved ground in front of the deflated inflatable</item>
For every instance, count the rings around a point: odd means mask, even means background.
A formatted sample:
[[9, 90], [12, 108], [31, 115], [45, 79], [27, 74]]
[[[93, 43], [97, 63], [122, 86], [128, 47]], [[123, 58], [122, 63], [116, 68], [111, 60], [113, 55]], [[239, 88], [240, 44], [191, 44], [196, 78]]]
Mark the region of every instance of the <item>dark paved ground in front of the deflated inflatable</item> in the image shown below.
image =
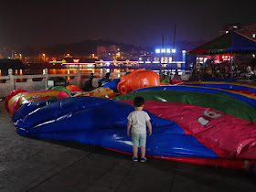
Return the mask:
[[0, 101], [0, 191], [256, 191], [244, 171], [123, 155], [16, 134]]

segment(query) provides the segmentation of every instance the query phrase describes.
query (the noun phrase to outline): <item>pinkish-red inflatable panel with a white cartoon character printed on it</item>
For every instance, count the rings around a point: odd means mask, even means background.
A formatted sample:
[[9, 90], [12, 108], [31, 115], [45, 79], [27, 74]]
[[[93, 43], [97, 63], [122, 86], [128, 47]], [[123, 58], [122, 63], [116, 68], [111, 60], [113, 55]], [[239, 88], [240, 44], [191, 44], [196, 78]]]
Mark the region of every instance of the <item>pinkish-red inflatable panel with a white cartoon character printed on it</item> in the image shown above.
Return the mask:
[[[133, 103], [132, 100], [121, 102]], [[173, 101], [145, 101], [144, 109], [178, 123], [219, 156], [256, 160], [256, 123], [214, 109]]]

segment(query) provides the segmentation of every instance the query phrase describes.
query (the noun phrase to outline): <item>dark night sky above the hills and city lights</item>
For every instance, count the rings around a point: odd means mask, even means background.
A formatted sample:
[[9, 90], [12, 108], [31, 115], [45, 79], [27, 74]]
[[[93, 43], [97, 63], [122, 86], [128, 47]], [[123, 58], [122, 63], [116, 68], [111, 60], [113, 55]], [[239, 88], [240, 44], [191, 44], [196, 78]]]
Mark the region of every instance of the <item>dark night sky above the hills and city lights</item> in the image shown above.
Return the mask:
[[256, 23], [256, 1], [2, 0], [0, 48], [103, 38], [134, 45], [210, 40], [233, 22]]

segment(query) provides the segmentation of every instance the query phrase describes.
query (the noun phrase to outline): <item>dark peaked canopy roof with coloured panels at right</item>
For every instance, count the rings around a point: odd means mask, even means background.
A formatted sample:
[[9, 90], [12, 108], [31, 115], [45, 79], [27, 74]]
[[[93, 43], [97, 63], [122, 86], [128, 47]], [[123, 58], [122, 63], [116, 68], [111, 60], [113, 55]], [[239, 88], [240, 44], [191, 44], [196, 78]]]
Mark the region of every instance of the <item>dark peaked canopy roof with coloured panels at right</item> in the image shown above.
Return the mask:
[[256, 41], [250, 37], [231, 31], [223, 36], [217, 37], [208, 43], [189, 50], [189, 54], [224, 54], [239, 53], [251, 54], [256, 52]]

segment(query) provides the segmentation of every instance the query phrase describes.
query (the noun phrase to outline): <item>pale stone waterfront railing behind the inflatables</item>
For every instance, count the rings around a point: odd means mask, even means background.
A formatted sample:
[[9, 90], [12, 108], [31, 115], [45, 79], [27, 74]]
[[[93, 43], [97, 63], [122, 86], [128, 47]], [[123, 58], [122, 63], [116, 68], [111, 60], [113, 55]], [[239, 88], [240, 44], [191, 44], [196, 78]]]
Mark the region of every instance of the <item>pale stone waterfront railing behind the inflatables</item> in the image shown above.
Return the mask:
[[[102, 73], [93, 73], [96, 77], [92, 80], [94, 87], [98, 87], [98, 80], [105, 77], [106, 72], [106, 69], [102, 69]], [[124, 72], [111, 72], [110, 79], [122, 78], [127, 72], [128, 69], [125, 69]], [[189, 77], [190, 72], [185, 70], [180, 71], [179, 74], [176, 75], [171, 74], [172, 79], [188, 80]], [[78, 85], [82, 88], [84, 82], [89, 80], [90, 73], [80, 73], [80, 69], [77, 69], [77, 72], [74, 74], [49, 74], [48, 69], [44, 69], [43, 74], [40, 75], [13, 75], [13, 69], [8, 69], [7, 76], [0, 76], [0, 97], [6, 97], [11, 91], [17, 89], [26, 91], [47, 90], [49, 86], [48, 80], [58, 78], [65, 79], [68, 85]]]

